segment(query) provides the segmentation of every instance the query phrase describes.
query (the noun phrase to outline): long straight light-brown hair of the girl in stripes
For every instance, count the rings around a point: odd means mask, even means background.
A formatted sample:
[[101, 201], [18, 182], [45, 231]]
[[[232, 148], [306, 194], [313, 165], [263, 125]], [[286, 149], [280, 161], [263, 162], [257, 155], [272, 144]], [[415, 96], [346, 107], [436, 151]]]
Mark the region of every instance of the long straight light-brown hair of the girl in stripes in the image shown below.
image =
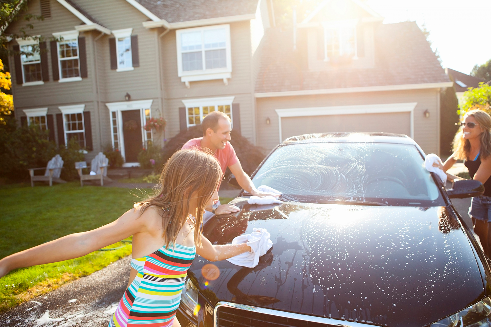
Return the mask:
[[161, 188], [152, 197], [135, 204], [143, 213], [150, 206], [162, 208], [166, 248], [175, 245], [177, 236], [190, 215], [191, 195], [198, 199], [194, 217], [194, 244], [201, 245], [203, 210], [223, 178], [218, 160], [202, 150], [176, 151], [167, 160], [160, 176]]

